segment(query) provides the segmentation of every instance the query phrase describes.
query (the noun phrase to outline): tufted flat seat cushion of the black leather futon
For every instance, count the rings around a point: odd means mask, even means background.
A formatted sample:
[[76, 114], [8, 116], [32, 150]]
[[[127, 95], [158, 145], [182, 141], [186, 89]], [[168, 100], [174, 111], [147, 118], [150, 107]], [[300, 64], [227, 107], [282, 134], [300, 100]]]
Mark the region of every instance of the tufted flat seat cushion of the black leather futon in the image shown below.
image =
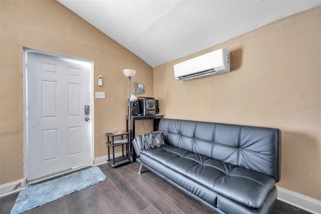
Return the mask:
[[260, 207], [275, 184], [274, 178], [171, 145], [141, 154], [248, 207]]

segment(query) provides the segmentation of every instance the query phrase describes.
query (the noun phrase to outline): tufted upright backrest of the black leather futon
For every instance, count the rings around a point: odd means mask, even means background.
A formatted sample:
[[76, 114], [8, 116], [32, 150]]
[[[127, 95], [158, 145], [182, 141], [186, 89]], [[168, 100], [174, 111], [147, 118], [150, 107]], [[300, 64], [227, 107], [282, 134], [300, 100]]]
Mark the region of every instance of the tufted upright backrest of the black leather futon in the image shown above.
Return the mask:
[[279, 129], [161, 119], [158, 130], [169, 145], [280, 180]]

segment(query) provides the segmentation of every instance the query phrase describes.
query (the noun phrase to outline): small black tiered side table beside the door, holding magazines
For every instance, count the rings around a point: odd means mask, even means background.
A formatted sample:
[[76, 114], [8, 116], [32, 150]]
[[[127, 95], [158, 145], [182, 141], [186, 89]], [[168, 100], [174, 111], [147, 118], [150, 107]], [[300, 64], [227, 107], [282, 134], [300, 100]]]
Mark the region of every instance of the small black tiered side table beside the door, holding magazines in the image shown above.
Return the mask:
[[[130, 141], [129, 141], [129, 132], [123, 133], [106, 133], [107, 136], [107, 146], [108, 146], [108, 163], [111, 167], [116, 167], [122, 164], [131, 162], [130, 159]], [[125, 138], [124, 138], [125, 137]], [[126, 145], [126, 154], [124, 154], [124, 145]], [[121, 146], [122, 156], [115, 158], [115, 147]], [[110, 161], [110, 151], [109, 147], [112, 149], [112, 161]]]

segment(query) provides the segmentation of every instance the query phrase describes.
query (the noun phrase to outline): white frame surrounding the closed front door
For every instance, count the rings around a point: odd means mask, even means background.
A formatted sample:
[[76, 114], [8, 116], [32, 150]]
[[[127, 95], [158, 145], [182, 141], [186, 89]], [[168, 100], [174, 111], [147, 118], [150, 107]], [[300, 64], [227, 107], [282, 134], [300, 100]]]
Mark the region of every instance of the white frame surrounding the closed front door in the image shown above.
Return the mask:
[[[27, 66], [26, 66], [26, 60], [27, 60], [27, 52], [32, 52], [32, 53], [37, 53], [37, 54], [43, 54], [43, 55], [47, 55], [47, 56], [52, 56], [52, 57], [60, 57], [60, 58], [65, 58], [65, 59], [72, 59], [72, 60], [77, 60], [77, 61], [81, 61], [81, 62], [86, 62], [86, 63], [91, 63], [92, 67], [90, 69], [90, 115], [91, 115], [91, 120], [90, 122], [90, 127], [91, 127], [91, 133], [90, 133], [90, 149], [91, 149], [91, 165], [93, 165], [93, 161], [94, 161], [94, 96], [93, 96], [93, 91], [94, 91], [94, 86], [93, 86], [93, 76], [94, 76], [94, 62], [92, 60], [87, 60], [87, 59], [82, 59], [82, 58], [78, 58], [78, 57], [72, 57], [72, 56], [67, 56], [67, 55], [63, 55], [63, 54], [58, 54], [58, 53], [52, 53], [52, 52], [48, 52], [48, 51], [42, 51], [42, 50], [38, 50], [38, 49], [34, 49], [34, 48], [28, 48], [28, 47], [23, 47], [23, 118], [24, 118], [24, 136], [23, 136], [23, 142], [24, 142], [24, 187], [26, 187], [29, 183], [28, 183], [28, 136], [27, 136]], [[81, 166], [81, 167], [85, 167], [85, 166]], [[81, 168], [80, 167], [80, 168]], [[77, 170], [77, 168], [75, 169], [71, 169], [68, 170], [68, 172], [73, 171], [73, 170]], [[57, 174], [53, 174], [50, 176], [46, 176], [44, 178], [41, 178], [40, 180], [49, 178], [49, 177], [54, 177], [57, 176], [59, 174], [63, 174], [66, 173], [66, 171], [64, 172], [60, 172]], [[38, 180], [37, 180], [38, 181]]]

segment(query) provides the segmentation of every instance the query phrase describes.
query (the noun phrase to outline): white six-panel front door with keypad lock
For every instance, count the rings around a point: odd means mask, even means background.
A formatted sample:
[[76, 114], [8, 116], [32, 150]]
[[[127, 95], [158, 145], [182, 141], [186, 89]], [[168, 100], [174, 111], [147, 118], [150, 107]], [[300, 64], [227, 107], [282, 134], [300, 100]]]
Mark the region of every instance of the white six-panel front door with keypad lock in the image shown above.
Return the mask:
[[89, 165], [92, 62], [26, 54], [28, 180]]

